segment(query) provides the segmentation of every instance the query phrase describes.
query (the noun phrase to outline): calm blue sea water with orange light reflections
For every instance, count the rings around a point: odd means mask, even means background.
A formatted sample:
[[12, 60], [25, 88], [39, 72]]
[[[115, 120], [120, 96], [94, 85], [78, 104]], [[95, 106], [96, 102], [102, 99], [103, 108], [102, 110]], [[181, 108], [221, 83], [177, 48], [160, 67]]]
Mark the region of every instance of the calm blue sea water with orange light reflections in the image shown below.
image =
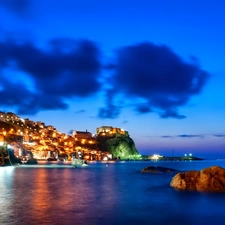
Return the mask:
[[200, 170], [225, 161], [0, 167], [0, 224], [225, 224], [225, 194], [176, 191], [173, 174], [140, 172], [150, 165]]

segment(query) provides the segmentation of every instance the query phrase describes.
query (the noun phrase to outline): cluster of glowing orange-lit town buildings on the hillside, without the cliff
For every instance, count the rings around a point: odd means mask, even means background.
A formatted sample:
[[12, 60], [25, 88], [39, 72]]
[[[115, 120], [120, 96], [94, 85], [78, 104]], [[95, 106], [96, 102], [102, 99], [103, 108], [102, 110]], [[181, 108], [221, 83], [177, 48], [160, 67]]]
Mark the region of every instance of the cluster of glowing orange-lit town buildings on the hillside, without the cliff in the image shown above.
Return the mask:
[[17, 157], [26, 160], [29, 153], [37, 160], [71, 160], [80, 157], [86, 160], [110, 160], [113, 155], [98, 149], [98, 136], [116, 137], [127, 131], [111, 126], [96, 129], [96, 134], [86, 131], [60, 133], [54, 126], [29, 119], [22, 119], [11, 112], [0, 112], [0, 145], [14, 150]]

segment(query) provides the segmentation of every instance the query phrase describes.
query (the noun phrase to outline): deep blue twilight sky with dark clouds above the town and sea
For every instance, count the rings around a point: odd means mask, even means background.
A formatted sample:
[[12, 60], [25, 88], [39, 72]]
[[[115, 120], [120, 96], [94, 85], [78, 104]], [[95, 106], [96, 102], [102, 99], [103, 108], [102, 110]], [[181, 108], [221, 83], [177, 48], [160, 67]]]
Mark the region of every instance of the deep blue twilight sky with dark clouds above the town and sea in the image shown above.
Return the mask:
[[225, 157], [223, 0], [0, 0], [0, 111]]

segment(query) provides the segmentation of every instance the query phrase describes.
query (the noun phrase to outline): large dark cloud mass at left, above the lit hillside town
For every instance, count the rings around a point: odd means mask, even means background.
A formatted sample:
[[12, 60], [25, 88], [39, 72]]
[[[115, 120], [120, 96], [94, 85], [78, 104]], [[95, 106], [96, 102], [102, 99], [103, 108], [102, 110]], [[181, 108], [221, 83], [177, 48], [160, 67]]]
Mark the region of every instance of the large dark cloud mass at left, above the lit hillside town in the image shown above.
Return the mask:
[[[20, 113], [65, 109], [66, 99], [86, 97], [100, 89], [100, 52], [91, 41], [52, 40], [48, 50], [42, 50], [29, 42], [8, 40], [0, 43], [0, 49], [0, 93]], [[18, 71], [27, 74], [35, 90], [13, 83], [12, 77], [3, 79], [6, 68], [14, 70], [13, 78], [19, 76]]]

